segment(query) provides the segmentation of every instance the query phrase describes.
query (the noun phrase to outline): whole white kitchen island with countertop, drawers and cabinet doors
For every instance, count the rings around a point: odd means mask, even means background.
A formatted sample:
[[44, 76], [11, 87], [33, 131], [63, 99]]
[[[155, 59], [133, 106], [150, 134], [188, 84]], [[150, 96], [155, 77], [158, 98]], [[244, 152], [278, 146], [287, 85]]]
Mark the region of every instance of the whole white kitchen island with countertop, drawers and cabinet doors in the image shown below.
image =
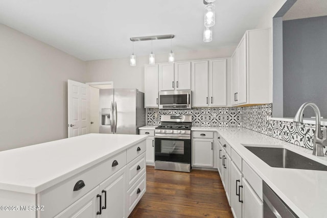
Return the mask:
[[0, 152], [0, 217], [127, 217], [146, 191], [145, 140], [87, 134]]

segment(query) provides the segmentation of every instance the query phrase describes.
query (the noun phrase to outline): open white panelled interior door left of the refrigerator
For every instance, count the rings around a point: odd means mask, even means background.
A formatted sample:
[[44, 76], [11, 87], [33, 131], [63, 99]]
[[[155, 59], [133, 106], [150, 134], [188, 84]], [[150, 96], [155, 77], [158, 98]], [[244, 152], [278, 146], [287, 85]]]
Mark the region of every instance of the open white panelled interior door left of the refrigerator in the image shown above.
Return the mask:
[[68, 80], [68, 137], [89, 133], [88, 85]]

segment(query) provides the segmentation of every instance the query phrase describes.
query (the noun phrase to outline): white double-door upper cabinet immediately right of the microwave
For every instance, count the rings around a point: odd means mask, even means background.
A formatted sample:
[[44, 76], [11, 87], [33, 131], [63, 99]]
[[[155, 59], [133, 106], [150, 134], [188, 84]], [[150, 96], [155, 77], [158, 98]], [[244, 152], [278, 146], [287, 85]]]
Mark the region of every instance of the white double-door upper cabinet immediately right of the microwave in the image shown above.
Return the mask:
[[227, 106], [227, 60], [192, 61], [193, 107]]

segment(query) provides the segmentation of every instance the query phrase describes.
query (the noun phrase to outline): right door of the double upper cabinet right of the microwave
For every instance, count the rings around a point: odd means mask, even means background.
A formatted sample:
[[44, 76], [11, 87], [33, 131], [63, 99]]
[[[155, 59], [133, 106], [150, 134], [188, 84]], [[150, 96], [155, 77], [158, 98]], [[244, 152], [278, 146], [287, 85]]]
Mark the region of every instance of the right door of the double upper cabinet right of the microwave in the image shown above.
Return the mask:
[[209, 61], [209, 106], [227, 105], [227, 60]]

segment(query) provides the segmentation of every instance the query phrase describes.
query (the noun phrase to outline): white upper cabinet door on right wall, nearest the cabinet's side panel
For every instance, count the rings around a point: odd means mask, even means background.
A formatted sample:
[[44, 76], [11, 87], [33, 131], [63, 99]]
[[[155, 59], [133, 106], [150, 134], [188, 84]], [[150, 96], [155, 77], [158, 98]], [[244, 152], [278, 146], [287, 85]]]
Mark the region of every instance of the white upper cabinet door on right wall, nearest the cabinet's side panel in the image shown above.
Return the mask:
[[237, 47], [237, 104], [246, 103], [246, 63], [247, 63], [247, 53], [246, 53], [246, 34], [241, 39], [239, 46]]

